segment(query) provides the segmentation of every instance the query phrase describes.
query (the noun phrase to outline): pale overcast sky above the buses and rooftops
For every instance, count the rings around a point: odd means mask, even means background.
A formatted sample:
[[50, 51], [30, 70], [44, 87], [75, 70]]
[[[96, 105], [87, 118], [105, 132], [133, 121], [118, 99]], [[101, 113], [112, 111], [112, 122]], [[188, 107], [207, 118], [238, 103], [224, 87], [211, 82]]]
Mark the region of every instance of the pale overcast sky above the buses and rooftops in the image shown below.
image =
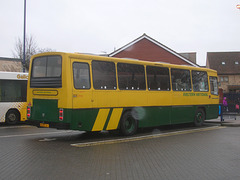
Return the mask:
[[[240, 0], [27, 0], [39, 48], [111, 53], [143, 33], [176, 52], [240, 51]], [[23, 37], [24, 0], [0, 0], [0, 57]]]

